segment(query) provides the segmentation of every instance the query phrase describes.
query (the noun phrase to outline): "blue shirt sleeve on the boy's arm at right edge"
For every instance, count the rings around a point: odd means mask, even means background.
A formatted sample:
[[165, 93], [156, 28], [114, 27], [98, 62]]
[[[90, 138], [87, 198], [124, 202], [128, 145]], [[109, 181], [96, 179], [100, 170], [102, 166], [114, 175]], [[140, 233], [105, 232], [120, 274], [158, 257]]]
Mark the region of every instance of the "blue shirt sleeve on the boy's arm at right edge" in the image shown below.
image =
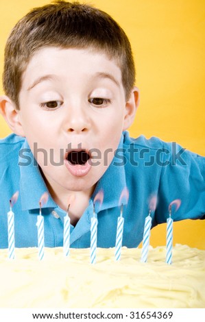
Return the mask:
[[174, 221], [205, 219], [205, 158], [176, 143], [164, 143], [156, 162], [162, 167], [156, 223], [167, 221], [169, 204], [177, 199], [180, 207], [171, 206]]

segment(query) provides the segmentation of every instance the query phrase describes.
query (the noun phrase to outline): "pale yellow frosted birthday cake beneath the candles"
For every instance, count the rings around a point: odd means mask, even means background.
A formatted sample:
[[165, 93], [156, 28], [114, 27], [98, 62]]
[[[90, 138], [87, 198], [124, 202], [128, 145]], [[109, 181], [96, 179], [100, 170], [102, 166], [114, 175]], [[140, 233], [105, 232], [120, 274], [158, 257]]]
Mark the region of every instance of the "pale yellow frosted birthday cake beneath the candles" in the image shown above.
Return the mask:
[[1, 249], [1, 308], [205, 308], [205, 250], [173, 247], [173, 264], [165, 263], [165, 247], [141, 249], [15, 249], [15, 259]]

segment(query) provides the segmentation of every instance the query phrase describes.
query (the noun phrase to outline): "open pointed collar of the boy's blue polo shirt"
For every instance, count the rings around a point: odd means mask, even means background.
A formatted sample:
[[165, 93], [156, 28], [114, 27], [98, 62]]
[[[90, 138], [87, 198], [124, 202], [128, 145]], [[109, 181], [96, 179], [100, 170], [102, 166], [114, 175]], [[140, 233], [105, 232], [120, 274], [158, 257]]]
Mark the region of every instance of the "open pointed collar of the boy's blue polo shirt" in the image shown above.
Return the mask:
[[[123, 134], [118, 147], [118, 153], [123, 152]], [[120, 160], [120, 161], [119, 161]], [[21, 173], [20, 193], [22, 210], [39, 209], [40, 197], [47, 191], [47, 186], [40, 173], [38, 164], [34, 155], [25, 139], [21, 151], [19, 153], [19, 166]], [[122, 153], [120, 159], [114, 156], [110, 166], [99, 179], [92, 200], [100, 190], [104, 192], [104, 201], [100, 208], [96, 205], [96, 211], [105, 210], [119, 206], [119, 199], [123, 188], [126, 186], [125, 169], [122, 160]], [[123, 201], [126, 204], [126, 201]], [[56, 208], [58, 207], [49, 194], [47, 203], [42, 208]]]

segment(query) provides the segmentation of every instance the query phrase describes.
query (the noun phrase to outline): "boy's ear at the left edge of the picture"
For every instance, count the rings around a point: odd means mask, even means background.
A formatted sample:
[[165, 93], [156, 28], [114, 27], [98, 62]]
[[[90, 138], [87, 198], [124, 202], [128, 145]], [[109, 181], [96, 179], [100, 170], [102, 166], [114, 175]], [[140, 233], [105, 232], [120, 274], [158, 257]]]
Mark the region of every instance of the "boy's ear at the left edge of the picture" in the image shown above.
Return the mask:
[[16, 110], [16, 105], [8, 96], [3, 95], [0, 97], [0, 113], [3, 115], [6, 123], [8, 123], [10, 129], [12, 129], [12, 132], [19, 136], [25, 136], [19, 117], [19, 111]]

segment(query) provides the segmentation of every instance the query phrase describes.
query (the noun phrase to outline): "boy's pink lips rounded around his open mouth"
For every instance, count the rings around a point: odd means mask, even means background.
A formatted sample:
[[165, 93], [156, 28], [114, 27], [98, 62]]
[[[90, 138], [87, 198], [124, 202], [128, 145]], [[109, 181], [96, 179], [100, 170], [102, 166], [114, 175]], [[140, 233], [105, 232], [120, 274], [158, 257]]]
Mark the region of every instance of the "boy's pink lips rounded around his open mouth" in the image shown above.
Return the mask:
[[74, 175], [75, 177], [83, 177], [84, 175], [88, 174], [88, 172], [91, 170], [91, 164], [90, 162], [88, 162], [89, 160], [91, 160], [91, 156], [90, 156], [90, 159], [88, 159], [88, 161], [85, 164], [71, 164], [71, 162], [67, 160], [67, 157], [71, 151], [82, 151], [82, 150], [88, 153], [86, 149], [71, 149], [67, 151], [67, 153], [64, 156], [65, 166], [67, 167], [71, 175]]

